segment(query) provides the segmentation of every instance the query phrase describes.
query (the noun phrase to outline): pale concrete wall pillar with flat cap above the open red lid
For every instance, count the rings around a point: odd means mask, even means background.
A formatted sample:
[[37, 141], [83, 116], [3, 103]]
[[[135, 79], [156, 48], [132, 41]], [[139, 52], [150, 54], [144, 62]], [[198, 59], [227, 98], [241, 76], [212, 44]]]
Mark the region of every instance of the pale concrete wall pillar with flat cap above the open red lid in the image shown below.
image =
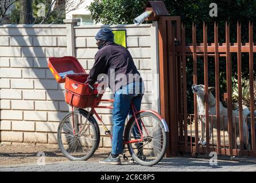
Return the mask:
[[74, 26], [77, 26], [77, 22], [80, 19], [64, 19], [63, 22], [67, 27], [67, 55], [75, 57], [75, 30]]

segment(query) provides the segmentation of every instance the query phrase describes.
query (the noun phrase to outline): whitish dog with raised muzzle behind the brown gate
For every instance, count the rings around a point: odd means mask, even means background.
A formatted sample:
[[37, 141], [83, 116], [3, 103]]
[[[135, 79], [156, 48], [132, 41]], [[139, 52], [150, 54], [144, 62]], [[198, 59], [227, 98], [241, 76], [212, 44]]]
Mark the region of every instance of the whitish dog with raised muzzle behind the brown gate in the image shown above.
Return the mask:
[[[204, 140], [205, 125], [206, 125], [204, 85], [192, 85], [192, 90], [193, 90], [193, 93], [196, 94], [198, 115], [199, 115], [199, 120], [200, 120], [201, 125], [202, 125], [201, 138], [200, 138], [198, 143], [201, 144], [201, 145], [206, 145], [206, 141]], [[209, 93], [209, 96], [208, 96], [208, 110], [209, 110], [209, 115], [210, 116], [211, 115], [216, 115], [216, 99], [211, 93], [213, 90], [215, 90], [215, 87], [208, 87], [208, 93]], [[220, 109], [220, 116], [221, 116], [220, 117], [220, 129], [222, 129], [224, 131], [228, 131], [228, 117], [227, 117], [228, 112], [227, 112], [227, 108], [224, 108], [221, 102], [219, 102], [219, 105], [220, 105], [219, 109]], [[247, 108], [245, 110], [243, 110], [243, 117], [247, 116], [247, 112], [248, 112]], [[224, 116], [224, 117], [222, 117], [222, 116]], [[236, 137], [239, 137], [239, 120], [238, 120], [239, 111], [238, 110], [233, 110], [232, 111], [232, 116], [233, 116], [233, 118], [232, 118], [233, 131], [232, 132], [235, 132]], [[224, 126], [223, 126], [223, 118], [224, 118]], [[236, 126], [236, 130], [235, 130], [235, 126]], [[211, 121], [209, 122], [209, 132], [210, 132], [209, 137], [210, 137], [210, 140], [211, 140], [211, 137], [212, 137], [212, 128], [215, 128], [215, 129], [217, 128], [216, 116], [212, 117], [212, 125], [211, 125]], [[245, 143], [247, 141], [246, 134], [248, 134], [246, 132], [246, 130], [247, 130], [246, 122], [245, 122], [245, 119], [243, 118], [243, 141]], [[238, 145], [240, 145], [239, 142], [238, 142]]]

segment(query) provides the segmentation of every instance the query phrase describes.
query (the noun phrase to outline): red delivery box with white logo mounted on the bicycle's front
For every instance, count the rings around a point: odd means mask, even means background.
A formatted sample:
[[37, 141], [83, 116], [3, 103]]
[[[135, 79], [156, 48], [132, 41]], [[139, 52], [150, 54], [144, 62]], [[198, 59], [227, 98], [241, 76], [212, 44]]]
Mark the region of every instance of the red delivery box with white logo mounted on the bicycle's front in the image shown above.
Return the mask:
[[[65, 102], [67, 104], [74, 106], [76, 108], [89, 108], [92, 107], [94, 101], [96, 100], [96, 96], [98, 94], [98, 84], [91, 85], [95, 88], [95, 90], [91, 90], [88, 87], [86, 79], [89, 74], [81, 73], [81, 74], [68, 74], [65, 79]], [[102, 98], [103, 94], [100, 94], [98, 100]], [[99, 105], [97, 102], [96, 105]]]

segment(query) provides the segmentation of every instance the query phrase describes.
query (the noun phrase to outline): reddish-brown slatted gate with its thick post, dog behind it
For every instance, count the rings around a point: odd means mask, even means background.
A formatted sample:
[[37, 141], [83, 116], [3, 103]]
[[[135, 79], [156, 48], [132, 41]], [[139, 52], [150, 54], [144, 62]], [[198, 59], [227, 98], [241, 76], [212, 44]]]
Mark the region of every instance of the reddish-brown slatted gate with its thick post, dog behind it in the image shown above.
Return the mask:
[[[254, 116], [254, 76], [253, 53], [256, 44], [253, 43], [253, 25], [249, 23], [249, 42], [241, 42], [241, 25], [236, 25], [237, 41], [230, 43], [230, 25], [226, 23], [226, 42], [219, 43], [218, 25], [214, 25], [214, 42], [207, 41], [207, 26], [203, 25], [203, 42], [196, 40], [196, 26], [192, 26], [192, 43], [186, 43], [185, 26], [181, 24], [180, 17], [160, 17], [158, 19], [158, 43], [160, 58], [160, 103], [161, 114], [169, 122], [170, 143], [167, 156], [181, 152], [196, 153], [216, 152], [228, 156], [256, 156], [255, 142], [255, 116]], [[233, 30], [232, 30], [233, 31]], [[232, 60], [231, 54], [237, 56], [239, 115], [232, 115]], [[242, 53], [249, 54], [249, 85], [250, 85], [250, 115], [243, 116], [242, 109]], [[220, 93], [219, 60], [226, 58], [226, 92]], [[193, 113], [188, 113], [187, 92], [192, 92], [191, 86], [187, 87], [188, 74], [186, 66], [188, 58], [192, 61], [193, 84], [197, 85], [197, 61], [203, 60], [203, 73], [205, 86], [204, 108], [205, 114], [198, 115], [196, 94], [193, 96]], [[208, 60], [213, 59], [215, 65], [215, 102], [216, 113], [210, 115], [208, 109]], [[223, 77], [223, 76], [221, 76]], [[220, 115], [220, 94], [224, 94], [227, 101], [227, 116]], [[236, 122], [237, 120], [237, 122]], [[205, 122], [206, 144], [198, 143], [201, 136], [202, 125]], [[235, 121], [235, 122], [234, 122]], [[246, 122], [246, 127], [243, 123]], [[209, 128], [215, 125], [215, 128]], [[225, 130], [224, 126], [227, 125]], [[251, 126], [251, 128], [249, 128]], [[222, 128], [223, 127], [223, 128]], [[247, 128], [244, 130], [244, 128]], [[213, 131], [210, 140], [210, 129]], [[238, 130], [239, 134], [233, 133]], [[246, 132], [246, 139], [240, 138]], [[237, 139], [236, 139], [237, 138]], [[239, 145], [240, 144], [240, 145]], [[250, 147], [251, 146], [251, 147]], [[170, 154], [169, 154], [170, 153]]]

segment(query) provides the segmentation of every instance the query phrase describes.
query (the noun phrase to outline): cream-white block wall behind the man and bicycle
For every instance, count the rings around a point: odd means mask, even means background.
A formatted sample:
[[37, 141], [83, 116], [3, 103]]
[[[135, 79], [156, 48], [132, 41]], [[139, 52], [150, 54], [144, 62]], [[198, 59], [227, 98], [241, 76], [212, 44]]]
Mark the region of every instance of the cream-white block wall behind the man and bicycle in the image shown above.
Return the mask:
[[[73, 55], [90, 71], [98, 50], [94, 36], [100, 29], [66, 23], [0, 26], [0, 141], [56, 144], [57, 126], [70, 108], [64, 101], [64, 84], [53, 78], [47, 58]], [[110, 29], [127, 31], [127, 47], [146, 85], [142, 109], [158, 111], [158, 87], [152, 85], [157, 73], [156, 26]], [[108, 90], [103, 98], [113, 96]], [[111, 129], [111, 110], [97, 111]], [[102, 136], [100, 146], [111, 146], [110, 139]]]

